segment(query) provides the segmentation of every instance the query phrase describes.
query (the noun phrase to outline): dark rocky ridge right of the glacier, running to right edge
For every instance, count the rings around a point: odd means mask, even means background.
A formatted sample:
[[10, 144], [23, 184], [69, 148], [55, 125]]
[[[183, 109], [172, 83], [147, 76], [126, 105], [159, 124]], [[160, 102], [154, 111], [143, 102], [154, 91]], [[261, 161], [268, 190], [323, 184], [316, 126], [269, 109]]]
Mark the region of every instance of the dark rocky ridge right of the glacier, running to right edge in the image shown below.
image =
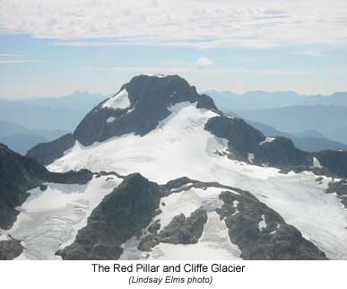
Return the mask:
[[[279, 168], [284, 173], [314, 171], [318, 175], [347, 178], [347, 152], [303, 152], [289, 138], [282, 136], [266, 141], [259, 130], [240, 118], [210, 118], [204, 128], [214, 136], [228, 140], [227, 154], [230, 159]], [[321, 167], [315, 167], [314, 157]]]

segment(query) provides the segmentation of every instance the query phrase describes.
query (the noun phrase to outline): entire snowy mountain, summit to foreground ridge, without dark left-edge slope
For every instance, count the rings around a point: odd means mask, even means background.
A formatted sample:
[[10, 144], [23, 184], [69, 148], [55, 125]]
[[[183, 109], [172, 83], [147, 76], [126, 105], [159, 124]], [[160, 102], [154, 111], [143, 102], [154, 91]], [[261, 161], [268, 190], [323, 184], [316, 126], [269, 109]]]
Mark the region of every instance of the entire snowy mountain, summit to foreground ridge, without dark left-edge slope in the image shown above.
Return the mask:
[[134, 77], [27, 156], [91, 177], [22, 188], [0, 236], [19, 258], [347, 258], [347, 152], [265, 137], [177, 75]]

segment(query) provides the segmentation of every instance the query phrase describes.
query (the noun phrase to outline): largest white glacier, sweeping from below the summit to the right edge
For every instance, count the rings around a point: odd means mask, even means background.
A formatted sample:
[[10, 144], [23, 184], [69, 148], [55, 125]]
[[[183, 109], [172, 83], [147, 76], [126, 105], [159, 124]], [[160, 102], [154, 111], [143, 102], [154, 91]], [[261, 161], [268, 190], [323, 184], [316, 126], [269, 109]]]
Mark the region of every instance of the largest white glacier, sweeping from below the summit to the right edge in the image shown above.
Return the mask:
[[[328, 178], [318, 183], [313, 173], [281, 174], [277, 169], [232, 161], [215, 153], [225, 151], [227, 141], [204, 130], [208, 118], [216, 116], [213, 111], [196, 109], [193, 103], [181, 102], [173, 106], [171, 112], [145, 136], [118, 136], [87, 147], [76, 142], [72, 150], [50, 164], [48, 169], [68, 171], [86, 168], [121, 174], [140, 172], [149, 180], [161, 184], [186, 176], [246, 189], [282, 215], [287, 223], [296, 226], [306, 238], [325, 251], [328, 258], [347, 258], [347, 215], [340, 199], [325, 193], [330, 181]], [[179, 206], [170, 206], [171, 213], [161, 216], [163, 223], [168, 223], [171, 215], [188, 214], [201, 203], [199, 194], [187, 199], [184, 198], [185, 193], [181, 197], [175, 194], [169, 197], [172, 204], [177, 203], [175, 198], [182, 199]], [[199, 241], [199, 246], [203, 246], [201, 243]], [[171, 258], [171, 250], [179, 249], [175, 250], [177, 254], [188, 250], [183, 245], [176, 246], [160, 244], [160, 251], [167, 254], [162, 258]], [[196, 250], [201, 252], [205, 249]], [[191, 254], [193, 256], [194, 253]], [[157, 258], [161, 258], [159, 255]]]

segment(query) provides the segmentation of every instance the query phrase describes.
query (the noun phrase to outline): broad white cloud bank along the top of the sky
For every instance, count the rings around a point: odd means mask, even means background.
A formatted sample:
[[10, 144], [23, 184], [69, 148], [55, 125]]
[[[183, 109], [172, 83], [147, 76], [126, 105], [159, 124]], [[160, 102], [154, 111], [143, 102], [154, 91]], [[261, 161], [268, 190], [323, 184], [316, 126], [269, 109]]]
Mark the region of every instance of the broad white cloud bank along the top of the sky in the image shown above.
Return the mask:
[[346, 45], [346, 15], [345, 0], [3, 0], [0, 31], [73, 47]]

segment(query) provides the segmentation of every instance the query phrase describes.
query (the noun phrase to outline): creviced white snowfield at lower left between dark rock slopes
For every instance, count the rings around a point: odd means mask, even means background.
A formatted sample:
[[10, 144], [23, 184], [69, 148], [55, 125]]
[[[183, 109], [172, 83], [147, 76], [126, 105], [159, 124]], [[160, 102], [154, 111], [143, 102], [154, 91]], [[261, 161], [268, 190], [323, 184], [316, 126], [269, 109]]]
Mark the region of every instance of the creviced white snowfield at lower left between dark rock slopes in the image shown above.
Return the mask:
[[18, 259], [58, 259], [56, 251], [74, 242], [91, 211], [121, 182], [117, 177], [107, 178], [94, 177], [86, 185], [47, 183], [45, 191], [31, 189], [7, 232], [22, 240], [24, 251]]

